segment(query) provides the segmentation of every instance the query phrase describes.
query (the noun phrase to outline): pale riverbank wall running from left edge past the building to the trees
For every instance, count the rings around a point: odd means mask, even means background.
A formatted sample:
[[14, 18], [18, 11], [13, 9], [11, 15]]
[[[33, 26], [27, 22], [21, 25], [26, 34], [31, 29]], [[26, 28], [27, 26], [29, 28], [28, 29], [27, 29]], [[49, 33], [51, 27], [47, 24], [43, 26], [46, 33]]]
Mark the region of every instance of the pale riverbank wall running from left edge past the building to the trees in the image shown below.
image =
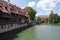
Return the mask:
[[35, 23], [0, 25], [0, 34], [6, 33], [12, 30], [17, 30], [17, 29], [23, 30], [23, 29], [31, 27], [32, 25], [35, 25]]

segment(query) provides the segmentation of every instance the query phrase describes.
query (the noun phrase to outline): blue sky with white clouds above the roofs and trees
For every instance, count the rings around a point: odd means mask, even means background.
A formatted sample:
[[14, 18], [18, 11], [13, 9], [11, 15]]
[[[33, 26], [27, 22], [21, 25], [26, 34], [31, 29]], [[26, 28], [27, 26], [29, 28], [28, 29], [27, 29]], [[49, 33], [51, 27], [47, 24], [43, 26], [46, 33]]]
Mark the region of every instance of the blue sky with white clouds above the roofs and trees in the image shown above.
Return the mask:
[[60, 14], [60, 0], [10, 0], [10, 2], [20, 8], [30, 6], [37, 11], [36, 15], [49, 15], [51, 10]]

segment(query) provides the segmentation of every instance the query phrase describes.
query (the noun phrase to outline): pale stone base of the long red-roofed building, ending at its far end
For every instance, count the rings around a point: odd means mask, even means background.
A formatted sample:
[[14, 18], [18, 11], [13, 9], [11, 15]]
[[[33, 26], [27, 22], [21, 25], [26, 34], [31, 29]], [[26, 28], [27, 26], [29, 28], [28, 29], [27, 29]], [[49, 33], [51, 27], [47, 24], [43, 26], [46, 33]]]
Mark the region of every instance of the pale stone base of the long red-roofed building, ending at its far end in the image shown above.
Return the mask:
[[25, 27], [27, 26], [28, 24], [8, 24], [8, 25], [0, 25], [0, 33], [3, 33], [3, 32], [7, 32], [7, 31], [10, 31], [10, 30], [14, 30], [14, 29], [17, 29], [17, 28], [20, 28], [20, 27]]

